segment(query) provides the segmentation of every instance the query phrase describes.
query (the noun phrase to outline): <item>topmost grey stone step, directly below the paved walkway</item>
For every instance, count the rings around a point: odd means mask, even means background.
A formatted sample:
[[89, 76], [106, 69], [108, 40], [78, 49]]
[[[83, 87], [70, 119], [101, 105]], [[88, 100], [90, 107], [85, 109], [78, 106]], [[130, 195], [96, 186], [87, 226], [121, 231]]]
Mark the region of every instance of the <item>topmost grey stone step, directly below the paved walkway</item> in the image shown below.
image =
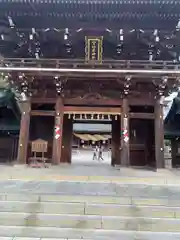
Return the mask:
[[180, 199], [180, 188], [177, 185], [137, 183], [0, 181], [0, 194], [4, 193]]

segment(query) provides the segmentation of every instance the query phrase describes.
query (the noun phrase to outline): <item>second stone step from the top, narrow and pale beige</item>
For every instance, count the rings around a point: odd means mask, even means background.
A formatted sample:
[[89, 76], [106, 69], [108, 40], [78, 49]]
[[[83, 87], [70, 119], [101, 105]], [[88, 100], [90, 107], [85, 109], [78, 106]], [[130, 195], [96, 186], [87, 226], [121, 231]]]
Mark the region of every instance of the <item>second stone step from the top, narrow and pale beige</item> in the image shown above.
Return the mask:
[[180, 207], [179, 199], [150, 197], [111, 197], [111, 196], [76, 196], [58, 194], [1, 193], [0, 201], [18, 202], [55, 202], [55, 203], [89, 203], [89, 204], [122, 204], [138, 206]]

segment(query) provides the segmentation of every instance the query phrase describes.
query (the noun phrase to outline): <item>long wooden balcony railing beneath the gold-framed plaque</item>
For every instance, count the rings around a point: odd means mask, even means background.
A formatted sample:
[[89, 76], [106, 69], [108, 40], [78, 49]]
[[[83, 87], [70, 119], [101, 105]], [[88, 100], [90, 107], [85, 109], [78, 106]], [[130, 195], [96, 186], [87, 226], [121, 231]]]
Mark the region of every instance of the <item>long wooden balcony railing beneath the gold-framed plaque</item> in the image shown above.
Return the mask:
[[86, 63], [84, 59], [35, 59], [4, 58], [1, 67], [47, 67], [47, 68], [98, 68], [98, 69], [166, 69], [178, 70], [180, 64], [173, 61], [103, 60], [102, 63]]

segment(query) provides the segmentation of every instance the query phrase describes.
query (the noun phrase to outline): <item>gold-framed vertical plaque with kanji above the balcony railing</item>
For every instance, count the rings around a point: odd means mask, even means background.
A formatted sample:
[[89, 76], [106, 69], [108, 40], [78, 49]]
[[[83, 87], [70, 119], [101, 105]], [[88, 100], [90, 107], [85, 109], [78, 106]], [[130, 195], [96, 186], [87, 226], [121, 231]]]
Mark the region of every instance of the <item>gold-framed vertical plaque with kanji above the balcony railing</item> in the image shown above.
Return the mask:
[[103, 37], [85, 37], [85, 60], [87, 63], [101, 63]]

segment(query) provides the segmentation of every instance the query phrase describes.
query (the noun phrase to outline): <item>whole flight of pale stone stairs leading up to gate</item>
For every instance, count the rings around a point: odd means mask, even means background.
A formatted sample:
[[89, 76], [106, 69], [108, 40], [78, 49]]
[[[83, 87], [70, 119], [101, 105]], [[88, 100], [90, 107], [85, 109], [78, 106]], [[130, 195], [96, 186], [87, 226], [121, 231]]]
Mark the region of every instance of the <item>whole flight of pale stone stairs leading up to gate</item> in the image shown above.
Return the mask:
[[178, 186], [35, 181], [1, 185], [0, 239], [180, 239]]

